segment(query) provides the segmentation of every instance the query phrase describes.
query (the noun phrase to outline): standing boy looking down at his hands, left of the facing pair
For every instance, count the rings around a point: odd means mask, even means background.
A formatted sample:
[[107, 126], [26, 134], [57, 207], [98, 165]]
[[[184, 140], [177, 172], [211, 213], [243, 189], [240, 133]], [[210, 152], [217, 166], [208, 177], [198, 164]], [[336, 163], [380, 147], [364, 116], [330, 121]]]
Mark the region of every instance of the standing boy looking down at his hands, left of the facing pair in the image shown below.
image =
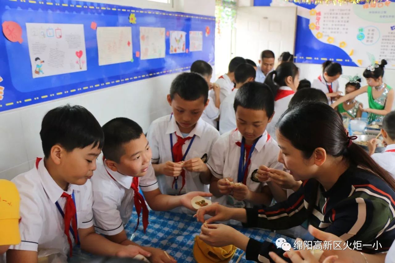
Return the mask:
[[164, 194], [208, 192], [211, 174], [205, 162], [219, 137], [218, 131], [200, 118], [208, 104], [208, 90], [201, 75], [181, 73], [167, 95], [173, 113], [154, 120], [149, 128], [152, 167]]

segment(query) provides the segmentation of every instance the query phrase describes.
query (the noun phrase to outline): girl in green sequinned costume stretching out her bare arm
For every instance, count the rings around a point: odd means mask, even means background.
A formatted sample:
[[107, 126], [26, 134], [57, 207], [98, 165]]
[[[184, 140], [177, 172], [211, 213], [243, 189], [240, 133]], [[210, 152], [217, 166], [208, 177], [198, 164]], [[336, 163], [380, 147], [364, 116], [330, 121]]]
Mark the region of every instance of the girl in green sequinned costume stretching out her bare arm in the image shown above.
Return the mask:
[[381, 64], [376, 64], [374, 57], [371, 56], [372, 64], [363, 71], [363, 77], [365, 77], [368, 85], [363, 86], [359, 90], [355, 90], [346, 96], [343, 96], [331, 106], [335, 108], [340, 103], [355, 98], [356, 96], [367, 92], [369, 100], [369, 108], [363, 109], [362, 106], [359, 108], [361, 111], [369, 113], [369, 122], [378, 121], [382, 122], [384, 116], [391, 112], [392, 103], [394, 100], [393, 89], [384, 83], [384, 66], [387, 65], [387, 61], [383, 59]]

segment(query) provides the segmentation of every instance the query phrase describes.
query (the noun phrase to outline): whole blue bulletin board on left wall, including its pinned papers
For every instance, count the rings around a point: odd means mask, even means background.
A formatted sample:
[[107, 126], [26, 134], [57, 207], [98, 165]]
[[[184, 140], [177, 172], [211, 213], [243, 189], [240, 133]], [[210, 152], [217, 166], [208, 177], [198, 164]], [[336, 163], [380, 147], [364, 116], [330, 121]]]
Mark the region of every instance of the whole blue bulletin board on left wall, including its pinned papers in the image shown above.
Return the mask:
[[0, 0], [0, 16], [0, 112], [214, 65], [214, 17], [67, 0]]

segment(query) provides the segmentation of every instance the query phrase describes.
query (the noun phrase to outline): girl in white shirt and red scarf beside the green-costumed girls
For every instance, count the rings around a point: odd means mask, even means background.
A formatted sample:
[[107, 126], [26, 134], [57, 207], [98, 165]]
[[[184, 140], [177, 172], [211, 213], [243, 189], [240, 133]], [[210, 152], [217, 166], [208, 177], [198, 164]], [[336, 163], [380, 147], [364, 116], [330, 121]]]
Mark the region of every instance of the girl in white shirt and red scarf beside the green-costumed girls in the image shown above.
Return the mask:
[[331, 104], [341, 94], [338, 81], [340, 75], [342, 75], [342, 66], [337, 62], [327, 60], [322, 64], [321, 75], [314, 79], [311, 87], [322, 90], [328, 97], [328, 103]]

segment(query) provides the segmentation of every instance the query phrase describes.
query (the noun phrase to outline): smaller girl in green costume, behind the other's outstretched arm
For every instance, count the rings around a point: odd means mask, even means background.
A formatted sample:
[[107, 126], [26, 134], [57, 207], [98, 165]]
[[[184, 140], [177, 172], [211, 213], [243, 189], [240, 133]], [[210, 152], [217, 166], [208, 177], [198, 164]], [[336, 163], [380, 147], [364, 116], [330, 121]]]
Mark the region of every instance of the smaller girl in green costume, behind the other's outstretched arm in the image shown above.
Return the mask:
[[[352, 76], [343, 76], [344, 78], [348, 79], [348, 83], [346, 84], [346, 94], [354, 92], [355, 90], [359, 90], [361, 88], [361, 77], [358, 75]], [[362, 110], [360, 107], [363, 108], [363, 104], [354, 98], [350, 100], [344, 101], [343, 103], [337, 106], [337, 111], [343, 116], [348, 118], [354, 119], [362, 116]]]

